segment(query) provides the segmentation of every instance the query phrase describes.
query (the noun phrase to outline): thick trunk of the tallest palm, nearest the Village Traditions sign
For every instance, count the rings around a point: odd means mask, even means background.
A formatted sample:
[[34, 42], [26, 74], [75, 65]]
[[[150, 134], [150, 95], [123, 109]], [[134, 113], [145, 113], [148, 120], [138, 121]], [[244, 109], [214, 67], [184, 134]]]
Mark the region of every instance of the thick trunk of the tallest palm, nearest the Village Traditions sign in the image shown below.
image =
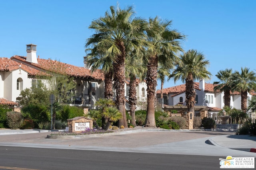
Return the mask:
[[124, 84], [125, 84], [125, 47], [124, 43], [118, 44], [122, 55], [118, 55], [116, 62], [113, 64], [114, 67], [114, 86], [116, 89], [116, 107], [122, 113], [123, 118], [118, 121], [118, 126], [128, 127], [126, 121], [126, 109], [125, 109], [125, 98], [124, 98]]

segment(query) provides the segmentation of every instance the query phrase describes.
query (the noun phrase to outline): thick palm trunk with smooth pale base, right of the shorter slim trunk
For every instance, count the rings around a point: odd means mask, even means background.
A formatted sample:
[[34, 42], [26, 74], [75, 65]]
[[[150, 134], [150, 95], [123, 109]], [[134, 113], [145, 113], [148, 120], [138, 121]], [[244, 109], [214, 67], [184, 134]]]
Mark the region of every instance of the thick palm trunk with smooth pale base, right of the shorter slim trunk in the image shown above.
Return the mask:
[[152, 56], [148, 62], [148, 70], [146, 76], [147, 82], [147, 97], [148, 97], [148, 106], [147, 106], [147, 115], [145, 126], [156, 127], [155, 119], [155, 95], [156, 95], [156, 78], [157, 78], [157, 67], [158, 67], [158, 57]]

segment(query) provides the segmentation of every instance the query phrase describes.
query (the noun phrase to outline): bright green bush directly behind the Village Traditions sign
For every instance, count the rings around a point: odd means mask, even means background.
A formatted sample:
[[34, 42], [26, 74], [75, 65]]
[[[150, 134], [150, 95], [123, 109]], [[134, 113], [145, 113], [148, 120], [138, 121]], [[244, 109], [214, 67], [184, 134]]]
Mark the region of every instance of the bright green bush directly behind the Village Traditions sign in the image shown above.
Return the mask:
[[56, 117], [56, 119], [67, 121], [67, 119], [84, 116], [84, 110], [79, 107], [64, 105], [63, 109], [60, 111], [60, 115], [61, 117]]

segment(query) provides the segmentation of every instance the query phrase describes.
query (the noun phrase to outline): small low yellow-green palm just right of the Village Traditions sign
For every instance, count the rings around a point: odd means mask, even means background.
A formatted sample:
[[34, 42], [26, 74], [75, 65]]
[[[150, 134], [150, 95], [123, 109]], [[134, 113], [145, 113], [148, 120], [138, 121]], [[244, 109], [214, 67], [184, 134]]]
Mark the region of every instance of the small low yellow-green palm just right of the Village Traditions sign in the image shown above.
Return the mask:
[[104, 130], [107, 130], [111, 123], [122, 119], [122, 113], [120, 113], [120, 111], [115, 107], [106, 107], [102, 114], [106, 119], [106, 126], [104, 127]]

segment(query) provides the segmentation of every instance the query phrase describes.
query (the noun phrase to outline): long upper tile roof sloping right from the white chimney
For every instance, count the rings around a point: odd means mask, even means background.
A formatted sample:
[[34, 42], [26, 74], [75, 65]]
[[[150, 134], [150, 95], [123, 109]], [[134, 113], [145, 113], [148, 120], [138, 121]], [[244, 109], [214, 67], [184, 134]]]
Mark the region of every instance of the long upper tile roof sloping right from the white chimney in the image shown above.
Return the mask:
[[51, 59], [37, 59], [38, 63], [30, 63], [26, 61], [26, 57], [14, 55], [11, 59], [16, 59], [18, 61], [24, 62], [36, 68], [58, 72], [61, 74], [68, 74], [69, 76], [78, 77], [78, 78], [92, 78], [96, 80], [104, 80], [104, 74], [100, 70], [96, 70], [93, 73], [87, 68], [74, 66], [71, 64], [62, 63], [56, 60]]

